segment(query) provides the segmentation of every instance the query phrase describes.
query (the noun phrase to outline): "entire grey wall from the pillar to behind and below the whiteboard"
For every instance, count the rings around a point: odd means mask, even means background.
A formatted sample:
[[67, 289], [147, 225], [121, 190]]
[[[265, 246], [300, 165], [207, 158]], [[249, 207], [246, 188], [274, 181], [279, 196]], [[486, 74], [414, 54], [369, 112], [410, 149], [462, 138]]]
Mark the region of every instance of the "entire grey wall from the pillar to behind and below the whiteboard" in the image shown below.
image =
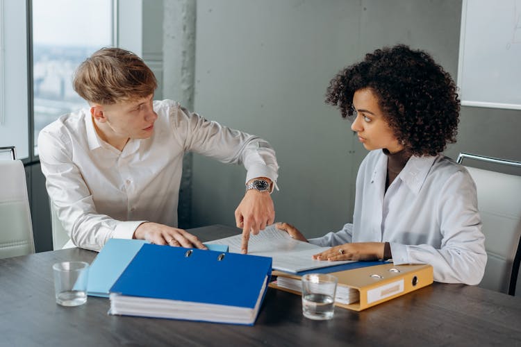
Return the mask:
[[[329, 79], [384, 45], [425, 49], [456, 79], [461, 1], [197, 1], [195, 110], [276, 149], [276, 220], [306, 236], [352, 221], [367, 153], [324, 105]], [[459, 151], [521, 160], [518, 111], [463, 108]], [[245, 171], [196, 155], [192, 226], [233, 225]]]

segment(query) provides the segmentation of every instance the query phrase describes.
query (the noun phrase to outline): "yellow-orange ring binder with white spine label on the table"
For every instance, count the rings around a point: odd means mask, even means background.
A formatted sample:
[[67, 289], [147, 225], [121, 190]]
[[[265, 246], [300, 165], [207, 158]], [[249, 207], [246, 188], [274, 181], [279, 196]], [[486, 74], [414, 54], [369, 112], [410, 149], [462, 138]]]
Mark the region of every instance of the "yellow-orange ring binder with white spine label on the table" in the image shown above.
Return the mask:
[[[384, 301], [431, 285], [431, 265], [382, 264], [329, 273], [338, 277], [335, 305], [361, 311]], [[300, 276], [273, 271], [277, 280], [270, 287], [301, 294]], [[340, 295], [339, 295], [340, 294]]]

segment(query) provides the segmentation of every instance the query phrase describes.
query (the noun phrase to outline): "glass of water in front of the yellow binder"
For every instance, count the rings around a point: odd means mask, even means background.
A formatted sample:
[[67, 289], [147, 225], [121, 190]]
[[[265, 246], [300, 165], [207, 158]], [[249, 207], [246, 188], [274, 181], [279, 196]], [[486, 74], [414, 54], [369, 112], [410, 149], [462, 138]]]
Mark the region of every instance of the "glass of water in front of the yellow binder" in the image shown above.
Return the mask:
[[308, 273], [302, 276], [301, 282], [304, 316], [317, 321], [332, 319], [338, 278], [326, 273]]

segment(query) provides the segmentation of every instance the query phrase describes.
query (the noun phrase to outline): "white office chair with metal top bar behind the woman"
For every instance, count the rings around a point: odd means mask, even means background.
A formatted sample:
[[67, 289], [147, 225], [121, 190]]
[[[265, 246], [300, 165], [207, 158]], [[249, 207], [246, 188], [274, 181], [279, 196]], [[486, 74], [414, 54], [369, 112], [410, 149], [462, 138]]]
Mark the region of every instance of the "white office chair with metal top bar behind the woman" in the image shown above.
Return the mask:
[[[464, 158], [521, 167], [521, 162], [470, 153], [460, 153], [458, 163]], [[485, 275], [479, 287], [514, 295], [519, 271], [516, 253], [521, 239], [521, 176], [474, 167], [466, 168], [476, 183], [478, 208], [488, 255]], [[518, 293], [520, 291], [521, 289], [518, 289]]]

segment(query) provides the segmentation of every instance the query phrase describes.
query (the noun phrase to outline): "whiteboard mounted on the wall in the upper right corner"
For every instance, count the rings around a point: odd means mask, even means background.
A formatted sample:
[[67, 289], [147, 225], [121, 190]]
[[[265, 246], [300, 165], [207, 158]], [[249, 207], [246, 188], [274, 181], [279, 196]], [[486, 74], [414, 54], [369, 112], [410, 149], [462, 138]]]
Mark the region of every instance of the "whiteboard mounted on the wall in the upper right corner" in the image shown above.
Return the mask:
[[521, 110], [521, 0], [463, 0], [461, 104]]

